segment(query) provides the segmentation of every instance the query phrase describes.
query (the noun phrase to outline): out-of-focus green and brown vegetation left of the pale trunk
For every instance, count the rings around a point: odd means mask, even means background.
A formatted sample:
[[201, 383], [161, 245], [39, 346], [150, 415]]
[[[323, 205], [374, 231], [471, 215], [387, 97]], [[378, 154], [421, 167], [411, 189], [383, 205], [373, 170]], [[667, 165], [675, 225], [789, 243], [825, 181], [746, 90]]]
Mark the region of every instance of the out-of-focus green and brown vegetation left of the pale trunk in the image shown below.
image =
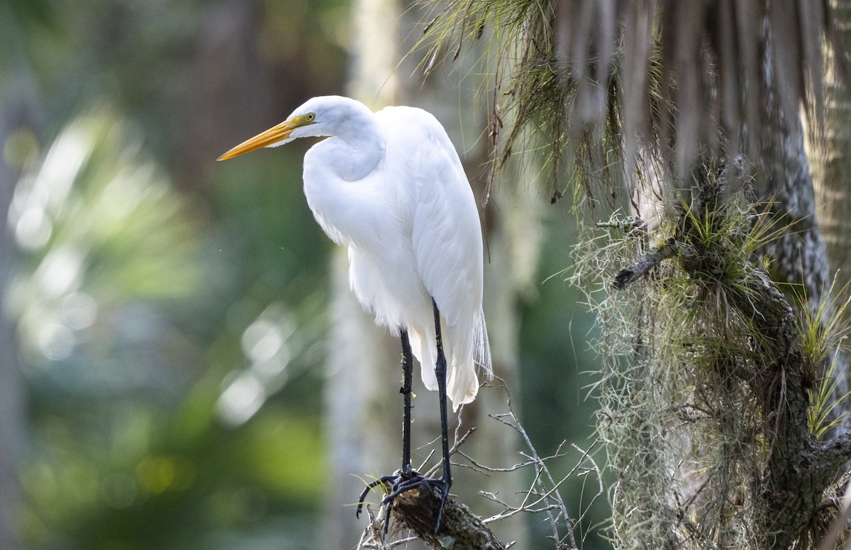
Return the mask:
[[[301, 196], [298, 152], [249, 172], [216, 165], [210, 144], [233, 120], [338, 91], [348, 11], [0, 3], [0, 145], [22, 174], [3, 289], [27, 404], [20, 441], [3, 441], [21, 450], [21, 547], [316, 538], [305, 517], [323, 492], [330, 247]], [[213, 73], [204, 65], [219, 43], [262, 94], [215, 95], [245, 84], [219, 55]], [[254, 410], [234, 421], [223, 403], [239, 380], [254, 384]]]

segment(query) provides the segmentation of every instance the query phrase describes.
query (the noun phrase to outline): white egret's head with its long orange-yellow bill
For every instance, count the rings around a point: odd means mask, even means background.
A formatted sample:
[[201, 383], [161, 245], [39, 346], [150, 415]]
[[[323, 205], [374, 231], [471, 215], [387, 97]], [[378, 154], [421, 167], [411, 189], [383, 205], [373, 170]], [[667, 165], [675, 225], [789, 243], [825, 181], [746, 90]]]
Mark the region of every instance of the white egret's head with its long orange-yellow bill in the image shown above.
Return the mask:
[[243, 141], [218, 160], [238, 157], [260, 147], [277, 147], [300, 137], [337, 135], [340, 124], [359, 108], [368, 112], [363, 104], [346, 97], [314, 97], [296, 109], [283, 123]]

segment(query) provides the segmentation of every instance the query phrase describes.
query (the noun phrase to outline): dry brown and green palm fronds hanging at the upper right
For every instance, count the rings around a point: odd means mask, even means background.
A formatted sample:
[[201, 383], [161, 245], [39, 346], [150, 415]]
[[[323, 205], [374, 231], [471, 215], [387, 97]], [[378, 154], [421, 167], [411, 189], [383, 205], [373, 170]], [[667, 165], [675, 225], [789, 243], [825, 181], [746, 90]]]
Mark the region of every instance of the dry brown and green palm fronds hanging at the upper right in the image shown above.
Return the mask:
[[[514, 121], [501, 160], [532, 126], [549, 145], [553, 177], [569, 175], [591, 198], [602, 195], [588, 163], [608, 152], [623, 158], [631, 192], [642, 146], [658, 147], [683, 180], [705, 147], [756, 153], [774, 116], [767, 105], [785, 124], [797, 123], [799, 105], [818, 120], [823, 47], [837, 44], [825, 0], [425, 3], [434, 14], [426, 70], [488, 29], [498, 51], [494, 102], [505, 102], [494, 116], [511, 111]], [[842, 52], [834, 59], [848, 73]], [[554, 185], [554, 198], [565, 185]]]

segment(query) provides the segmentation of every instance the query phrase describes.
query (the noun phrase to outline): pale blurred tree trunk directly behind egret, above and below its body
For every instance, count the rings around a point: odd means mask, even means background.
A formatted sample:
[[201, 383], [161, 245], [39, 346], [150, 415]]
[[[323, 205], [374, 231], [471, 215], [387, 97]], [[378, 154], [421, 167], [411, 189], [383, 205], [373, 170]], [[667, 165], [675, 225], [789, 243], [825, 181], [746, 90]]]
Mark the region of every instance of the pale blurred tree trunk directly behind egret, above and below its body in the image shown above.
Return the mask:
[[[391, 75], [399, 57], [398, 10], [397, 0], [357, 0], [351, 7], [346, 91], [372, 109], [397, 100]], [[351, 292], [345, 249], [334, 250], [331, 270], [325, 418], [332, 476], [323, 547], [348, 548], [366, 526], [348, 505], [357, 502], [366, 484], [402, 464], [401, 344], [375, 326]], [[367, 501], [380, 497], [368, 495]]]

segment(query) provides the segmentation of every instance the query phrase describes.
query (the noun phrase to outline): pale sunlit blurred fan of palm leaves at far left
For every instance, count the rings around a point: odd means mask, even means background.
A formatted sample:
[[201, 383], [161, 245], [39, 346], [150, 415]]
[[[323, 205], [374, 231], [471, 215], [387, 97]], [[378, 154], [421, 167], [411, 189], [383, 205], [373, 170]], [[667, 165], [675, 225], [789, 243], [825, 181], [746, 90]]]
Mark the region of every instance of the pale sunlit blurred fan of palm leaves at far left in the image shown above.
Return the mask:
[[139, 149], [111, 113], [80, 117], [16, 187], [10, 223], [26, 256], [9, 308], [32, 358], [68, 357], [81, 331], [98, 329], [100, 302], [170, 300], [197, 288], [197, 223]]

